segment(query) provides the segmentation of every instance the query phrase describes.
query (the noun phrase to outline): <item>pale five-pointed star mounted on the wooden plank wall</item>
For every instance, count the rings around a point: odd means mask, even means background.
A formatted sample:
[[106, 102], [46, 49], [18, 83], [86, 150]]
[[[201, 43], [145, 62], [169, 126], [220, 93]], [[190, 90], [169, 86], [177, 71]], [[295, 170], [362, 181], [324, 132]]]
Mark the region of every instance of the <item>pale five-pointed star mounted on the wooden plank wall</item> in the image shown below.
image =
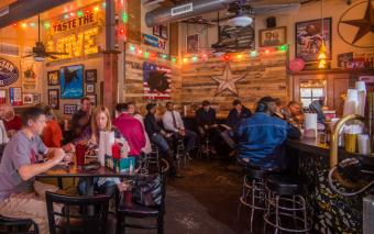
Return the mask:
[[211, 79], [213, 79], [218, 82], [216, 96], [223, 92], [224, 90], [229, 90], [230, 92], [238, 96], [235, 82], [241, 80], [241, 79], [244, 79], [245, 77], [246, 77], [246, 75], [244, 75], [244, 76], [243, 75], [233, 75], [231, 73], [229, 63], [227, 63], [222, 76], [211, 77]]

